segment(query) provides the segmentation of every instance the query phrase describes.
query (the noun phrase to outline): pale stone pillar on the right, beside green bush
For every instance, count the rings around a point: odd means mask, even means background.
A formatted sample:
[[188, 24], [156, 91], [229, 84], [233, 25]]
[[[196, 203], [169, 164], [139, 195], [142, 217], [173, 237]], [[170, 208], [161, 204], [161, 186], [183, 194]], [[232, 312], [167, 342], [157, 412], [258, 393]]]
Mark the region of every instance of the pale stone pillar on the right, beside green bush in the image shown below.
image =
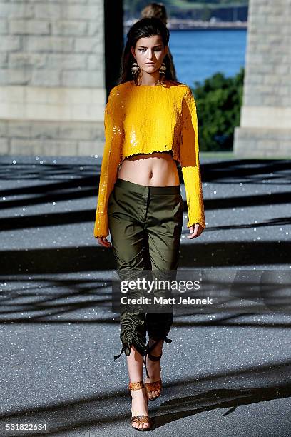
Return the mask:
[[291, 156], [291, 0], [250, 0], [235, 156]]

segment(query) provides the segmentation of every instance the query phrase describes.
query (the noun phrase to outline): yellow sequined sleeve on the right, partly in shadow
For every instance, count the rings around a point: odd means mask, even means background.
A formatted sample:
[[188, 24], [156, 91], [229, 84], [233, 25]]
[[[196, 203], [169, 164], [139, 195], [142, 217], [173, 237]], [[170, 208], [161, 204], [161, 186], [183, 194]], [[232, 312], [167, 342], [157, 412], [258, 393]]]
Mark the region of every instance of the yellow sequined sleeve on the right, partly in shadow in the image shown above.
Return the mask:
[[205, 228], [203, 191], [199, 164], [198, 119], [195, 100], [189, 87], [187, 87], [182, 103], [180, 164], [188, 205], [187, 227], [190, 228], [193, 224], [200, 223], [200, 225]]

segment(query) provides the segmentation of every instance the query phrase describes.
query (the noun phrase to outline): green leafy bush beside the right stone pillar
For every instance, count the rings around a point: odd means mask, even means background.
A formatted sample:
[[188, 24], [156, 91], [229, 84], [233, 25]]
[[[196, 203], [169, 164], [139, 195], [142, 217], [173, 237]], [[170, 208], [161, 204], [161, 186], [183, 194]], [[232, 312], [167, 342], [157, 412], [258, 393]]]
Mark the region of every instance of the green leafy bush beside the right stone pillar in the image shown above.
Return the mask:
[[236, 76], [218, 72], [204, 83], [195, 81], [193, 96], [198, 112], [198, 135], [201, 151], [233, 149], [235, 126], [240, 126], [242, 88], [245, 69]]

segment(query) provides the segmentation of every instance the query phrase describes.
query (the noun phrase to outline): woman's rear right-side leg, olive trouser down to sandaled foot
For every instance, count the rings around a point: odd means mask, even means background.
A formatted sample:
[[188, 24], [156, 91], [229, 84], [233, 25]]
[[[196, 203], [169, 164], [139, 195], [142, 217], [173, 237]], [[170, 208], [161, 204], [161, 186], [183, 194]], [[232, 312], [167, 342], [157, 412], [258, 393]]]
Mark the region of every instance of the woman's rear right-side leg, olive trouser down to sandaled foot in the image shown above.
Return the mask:
[[[168, 188], [168, 187], [167, 187]], [[166, 192], [166, 190], [165, 190]], [[179, 193], [156, 196], [150, 204], [148, 222], [149, 252], [153, 271], [153, 280], [174, 281], [180, 256], [180, 236], [183, 226], [183, 199]], [[170, 297], [170, 289], [160, 287], [155, 290], [157, 297]], [[173, 311], [146, 314], [148, 331], [147, 366], [150, 378], [146, 378], [150, 398], [160, 395], [160, 358], [163, 343], [170, 343], [166, 338], [173, 323]], [[159, 382], [160, 381], [160, 382]], [[157, 384], [151, 384], [157, 382]]]

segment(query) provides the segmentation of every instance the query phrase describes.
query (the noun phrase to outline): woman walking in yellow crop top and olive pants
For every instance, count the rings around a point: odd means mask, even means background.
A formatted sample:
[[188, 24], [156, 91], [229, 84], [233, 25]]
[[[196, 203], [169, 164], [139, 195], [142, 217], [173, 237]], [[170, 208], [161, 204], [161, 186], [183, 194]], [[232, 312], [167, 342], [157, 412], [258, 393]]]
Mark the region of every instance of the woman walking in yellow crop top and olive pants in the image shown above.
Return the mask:
[[[187, 85], [171, 77], [168, 41], [160, 19], [131, 26], [121, 77], [106, 104], [94, 236], [103, 247], [112, 243], [120, 278], [136, 278], [143, 271], [165, 278], [177, 271], [183, 226], [177, 163], [188, 204], [187, 238], [197, 238], [205, 228], [195, 100]], [[160, 358], [164, 341], [172, 341], [167, 338], [172, 323], [172, 312], [121, 312], [122, 348], [114, 358], [126, 355], [131, 423], [138, 430], [152, 425], [148, 399], [161, 393]]]

